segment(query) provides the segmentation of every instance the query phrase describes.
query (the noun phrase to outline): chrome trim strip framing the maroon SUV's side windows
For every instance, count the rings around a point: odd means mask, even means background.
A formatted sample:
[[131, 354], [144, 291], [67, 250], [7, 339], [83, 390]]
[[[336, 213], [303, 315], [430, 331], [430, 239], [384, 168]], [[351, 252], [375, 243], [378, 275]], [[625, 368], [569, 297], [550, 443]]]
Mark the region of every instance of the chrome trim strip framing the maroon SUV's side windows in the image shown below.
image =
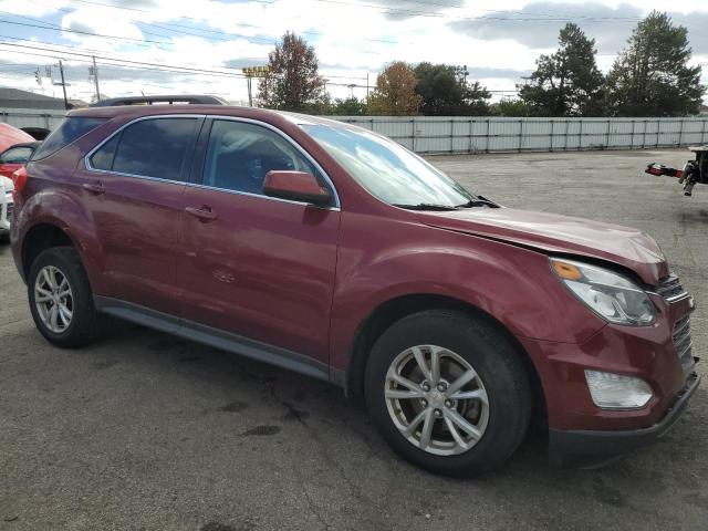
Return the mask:
[[274, 132], [281, 138], [283, 138], [287, 143], [289, 143], [298, 153], [300, 153], [310, 164], [312, 164], [315, 167], [315, 169], [317, 171], [320, 171], [320, 174], [322, 175], [322, 177], [324, 178], [326, 184], [330, 186], [330, 189], [332, 190], [332, 192], [334, 195], [334, 205], [331, 206], [331, 207], [315, 207], [315, 208], [321, 208], [323, 210], [333, 210], [333, 211], [340, 211], [341, 210], [340, 196], [339, 196], [339, 194], [336, 191], [336, 187], [334, 186], [334, 183], [332, 181], [332, 179], [330, 178], [327, 173], [322, 168], [322, 166], [320, 166], [320, 163], [317, 163], [312, 157], [312, 155], [310, 155], [308, 152], [305, 152], [300, 144], [298, 144], [290, 136], [288, 136], [285, 133], [280, 131], [278, 127], [275, 127], [275, 126], [273, 126], [271, 124], [267, 124], [266, 122], [261, 122], [259, 119], [253, 119], [253, 118], [242, 118], [242, 117], [239, 117], [239, 116], [225, 116], [225, 115], [221, 115], [221, 114], [158, 114], [158, 115], [150, 115], [150, 116], [140, 116], [138, 118], [132, 119], [131, 122], [127, 122], [127, 123], [123, 124], [121, 127], [118, 127], [116, 131], [114, 131], [111, 135], [108, 135], [106, 138], [101, 140], [95, 147], [93, 147], [84, 156], [84, 166], [86, 167], [86, 170], [87, 171], [92, 171], [92, 173], [96, 173], [96, 174], [121, 175], [121, 176], [124, 176], [124, 177], [132, 177], [132, 178], [137, 178], [137, 179], [147, 179], [147, 180], [156, 180], [156, 181], [162, 181], [162, 183], [171, 183], [171, 184], [184, 185], [184, 186], [189, 186], [189, 187], [194, 187], [194, 188], [205, 188], [205, 189], [210, 189], [210, 190], [218, 190], [218, 191], [223, 191], [223, 192], [227, 192], [227, 194], [235, 194], [235, 195], [239, 195], [239, 196], [260, 197], [262, 199], [268, 199], [268, 200], [271, 200], [271, 201], [290, 202], [290, 204], [293, 204], [293, 205], [313, 206], [312, 204], [306, 202], [306, 201], [294, 201], [294, 200], [291, 200], [291, 199], [281, 199], [279, 197], [271, 197], [271, 196], [266, 196], [266, 195], [262, 195], [262, 194], [251, 194], [251, 192], [248, 192], [248, 191], [229, 190], [227, 188], [218, 188], [216, 186], [207, 186], [207, 185], [202, 185], [202, 184], [198, 184], [198, 183], [189, 183], [189, 181], [183, 181], [183, 180], [164, 179], [164, 178], [160, 178], [160, 177], [153, 177], [153, 176], [148, 176], [148, 175], [135, 175], [135, 174], [126, 174], [126, 173], [122, 173], [122, 171], [113, 171], [113, 170], [107, 170], [107, 169], [98, 169], [98, 168], [94, 168], [91, 165], [91, 157], [93, 156], [93, 154], [96, 153], [98, 149], [101, 149], [101, 147], [103, 147], [104, 144], [108, 143], [114, 136], [121, 134], [121, 132], [123, 132], [123, 129], [125, 129], [126, 127], [128, 127], [128, 126], [131, 126], [131, 125], [133, 125], [133, 124], [135, 124], [137, 122], [143, 122], [145, 119], [160, 119], [160, 118], [211, 118], [211, 119], [222, 119], [222, 121], [229, 121], [229, 122], [241, 122], [241, 123], [246, 123], [246, 124], [258, 125], [258, 126], [266, 127], [267, 129], [270, 129], [270, 131]]

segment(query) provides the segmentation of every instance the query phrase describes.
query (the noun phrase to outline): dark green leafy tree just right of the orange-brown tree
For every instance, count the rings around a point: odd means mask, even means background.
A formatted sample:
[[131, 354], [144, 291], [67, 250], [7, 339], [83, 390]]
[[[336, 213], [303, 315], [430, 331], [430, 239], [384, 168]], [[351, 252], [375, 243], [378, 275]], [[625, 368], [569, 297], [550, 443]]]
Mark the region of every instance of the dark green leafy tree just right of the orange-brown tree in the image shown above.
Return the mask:
[[449, 64], [420, 63], [414, 72], [416, 93], [423, 98], [426, 116], [470, 116], [488, 114], [491, 94], [478, 82], [467, 85], [462, 72]]

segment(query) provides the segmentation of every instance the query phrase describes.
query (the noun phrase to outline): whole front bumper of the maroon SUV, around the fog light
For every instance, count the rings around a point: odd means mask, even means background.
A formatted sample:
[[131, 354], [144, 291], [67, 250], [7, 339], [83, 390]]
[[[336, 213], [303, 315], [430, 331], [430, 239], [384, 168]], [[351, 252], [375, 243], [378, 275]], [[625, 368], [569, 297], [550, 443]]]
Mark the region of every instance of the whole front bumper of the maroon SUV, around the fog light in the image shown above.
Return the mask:
[[[686, 408], [699, 378], [693, 367], [697, 358], [685, 348], [690, 335], [681, 335], [681, 323], [695, 304], [688, 295], [671, 301], [652, 296], [659, 315], [648, 326], [607, 324], [580, 344], [520, 340], [543, 388], [553, 462], [590, 466], [613, 460], [659, 437]], [[639, 409], [600, 408], [585, 369], [642, 378], [654, 396]]]

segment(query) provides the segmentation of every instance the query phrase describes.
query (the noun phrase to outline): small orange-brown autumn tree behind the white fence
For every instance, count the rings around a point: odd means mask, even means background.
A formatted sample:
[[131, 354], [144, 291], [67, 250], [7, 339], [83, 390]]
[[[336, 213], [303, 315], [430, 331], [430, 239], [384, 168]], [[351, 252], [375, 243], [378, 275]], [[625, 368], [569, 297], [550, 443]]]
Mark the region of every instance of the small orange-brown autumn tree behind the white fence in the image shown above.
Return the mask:
[[410, 116], [418, 114], [423, 98], [416, 94], [416, 73], [403, 61], [395, 61], [376, 76], [376, 88], [369, 98], [372, 114]]

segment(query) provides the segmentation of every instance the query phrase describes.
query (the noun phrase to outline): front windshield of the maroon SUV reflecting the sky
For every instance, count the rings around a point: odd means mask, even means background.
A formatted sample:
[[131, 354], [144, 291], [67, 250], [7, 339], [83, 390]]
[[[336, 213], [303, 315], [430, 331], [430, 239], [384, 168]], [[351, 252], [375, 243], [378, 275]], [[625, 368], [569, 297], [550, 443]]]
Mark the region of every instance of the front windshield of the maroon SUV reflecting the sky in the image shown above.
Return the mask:
[[419, 156], [375, 133], [321, 124], [302, 128], [360, 185], [389, 205], [457, 207], [477, 199]]

